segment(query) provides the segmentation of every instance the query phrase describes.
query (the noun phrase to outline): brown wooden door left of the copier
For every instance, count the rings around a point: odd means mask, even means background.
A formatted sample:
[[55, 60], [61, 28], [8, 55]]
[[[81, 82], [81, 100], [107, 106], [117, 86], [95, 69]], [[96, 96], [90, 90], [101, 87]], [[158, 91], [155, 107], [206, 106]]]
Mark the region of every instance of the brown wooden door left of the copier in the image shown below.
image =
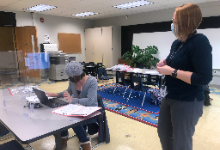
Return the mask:
[[20, 59], [23, 59], [23, 63], [19, 64], [22, 79], [30, 82], [41, 82], [40, 69], [29, 70], [28, 67], [25, 66], [27, 53], [39, 52], [36, 27], [15, 27], [15, 36], [17, 51], [22, 53], [22, 55], [20, 55]]

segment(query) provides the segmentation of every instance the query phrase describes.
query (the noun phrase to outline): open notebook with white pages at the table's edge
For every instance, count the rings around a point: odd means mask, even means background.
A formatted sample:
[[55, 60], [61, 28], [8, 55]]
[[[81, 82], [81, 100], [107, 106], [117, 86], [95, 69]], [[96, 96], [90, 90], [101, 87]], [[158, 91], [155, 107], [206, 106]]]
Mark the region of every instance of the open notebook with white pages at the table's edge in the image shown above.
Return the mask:
[[97, 110], [101, 109], [101, 107], [86, 107], [78, 104], [69, 104], [66, 106], [62, 106], [52, 111], [52, 113], [64, 115], [64, 116], [83, 116], [86, 117]]

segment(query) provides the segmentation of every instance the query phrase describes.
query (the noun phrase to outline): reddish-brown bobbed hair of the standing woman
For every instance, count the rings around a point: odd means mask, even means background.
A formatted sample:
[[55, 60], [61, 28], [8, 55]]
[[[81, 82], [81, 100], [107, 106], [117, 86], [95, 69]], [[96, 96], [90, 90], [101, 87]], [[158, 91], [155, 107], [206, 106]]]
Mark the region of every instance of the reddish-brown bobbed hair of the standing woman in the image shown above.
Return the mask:
[[175, 28], [176, 37], [181, 40], [188, 38], [202, 22], [202, 12], [196, 4], [184, 4], [176, 8]]

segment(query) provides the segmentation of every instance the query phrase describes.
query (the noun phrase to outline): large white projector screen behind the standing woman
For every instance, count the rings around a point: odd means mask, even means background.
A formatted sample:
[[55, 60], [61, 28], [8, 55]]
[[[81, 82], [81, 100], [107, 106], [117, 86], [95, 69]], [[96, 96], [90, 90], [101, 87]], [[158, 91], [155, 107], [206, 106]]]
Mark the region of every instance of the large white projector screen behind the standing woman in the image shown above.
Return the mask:
[[[212, 46], [212, 67], [220, 69], [220, 28], [215, 29], [198, 29], [198, 33], [207, 36]], [[155, 45], [158, 47], [158, 54], [155, 57], [163, 60], [170, 52], [171, 45], [176, 37], [171, 31], [137, 33], [133, 35], [133, 45], [138, 45], [141, 49], [147, 46]]]

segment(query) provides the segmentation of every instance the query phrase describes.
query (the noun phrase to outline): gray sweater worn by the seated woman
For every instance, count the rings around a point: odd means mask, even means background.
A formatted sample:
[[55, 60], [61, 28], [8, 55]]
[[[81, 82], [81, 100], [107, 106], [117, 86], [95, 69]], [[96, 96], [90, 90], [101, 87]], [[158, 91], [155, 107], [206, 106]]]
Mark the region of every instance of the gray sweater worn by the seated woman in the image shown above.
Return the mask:
[[[80, 95], [78, 95], [76, 91], [75, 83], [71, 81], [69, 81], [69, 87], [66, 91], [68, 91], [70, 95], [74, 95], [72, 104], [80, 104], [83, 106], [98, 106], [97, 88], [98, 83], [96, 78], [89, 76], [86, 83], [83, 86]], [[63, 97], [64, 92], [59, 93], [59, 97]]]

